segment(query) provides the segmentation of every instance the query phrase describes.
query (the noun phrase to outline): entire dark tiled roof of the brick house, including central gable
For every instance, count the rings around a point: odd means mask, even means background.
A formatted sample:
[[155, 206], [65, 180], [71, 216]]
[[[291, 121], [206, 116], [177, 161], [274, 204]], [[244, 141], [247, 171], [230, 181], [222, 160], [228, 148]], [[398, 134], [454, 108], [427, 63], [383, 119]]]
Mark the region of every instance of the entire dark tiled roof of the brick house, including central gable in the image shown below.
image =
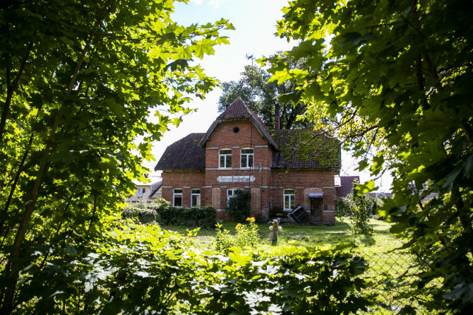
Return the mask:
[[[340, 141], [308, 130], [268, 130], [263, 121], [239, 98], [220, 114], [207, 133], [191, 133], [164, 151], [155, 170], [205, 170], [205, 142], [221, 121], [248, 119], [273, 150], [272, 168], [340, 169]], [[320, 143], [313, 153], [304, 152], [304, 143]], [[307, 148], [307, 147], [305, 147]]]

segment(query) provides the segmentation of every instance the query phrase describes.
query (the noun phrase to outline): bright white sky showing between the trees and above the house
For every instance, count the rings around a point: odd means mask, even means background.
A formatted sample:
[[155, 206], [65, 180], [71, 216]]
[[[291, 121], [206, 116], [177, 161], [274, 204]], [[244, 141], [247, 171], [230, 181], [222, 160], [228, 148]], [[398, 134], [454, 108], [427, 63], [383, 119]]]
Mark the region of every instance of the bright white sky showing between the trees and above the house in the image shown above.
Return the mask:
[[[287, 0], [191, 0], [188, 4], [176, 3], [172, 18], [181, 25], [228, 19], [236, 29], [222, 33], [229, 37], [230, 44], [214, 47], [215, 54], [205, 56], [199, 60], [199, 64], [208, 76], [221, 82], [238, 81], [244, 66], [251, 65], [251, 59], [247, 56], [253, 55], [259, 59], [294, 46], [294, 43], [275, 36], [277, 20], [282, 18], [281, 9], [286, 5]], [[256, 65], [256, 61], [253, 64]], [[160, 141], [153, 143], [152, 155], [155, 161], [145, 162], [144, 166], [154, 170], [168, 145], [188, 133], [205, 133], [219, 114], [217, 107], [220, 95], [222, 90], [215, 88], [205, 100], [196, 98], [188, 104], [188, 107], [196, 108], [197, 111], [184, 116], [179, 127], [173, 126]], [[358, 172], [356, 168], [356, 160], [349, 153], [342, 153], [340, 175], [359, 175], [361, 182], [371, 179], [368, 172]], [[390, 191], [390, 184], [388, 176], [376, 180], [379, 191]]]

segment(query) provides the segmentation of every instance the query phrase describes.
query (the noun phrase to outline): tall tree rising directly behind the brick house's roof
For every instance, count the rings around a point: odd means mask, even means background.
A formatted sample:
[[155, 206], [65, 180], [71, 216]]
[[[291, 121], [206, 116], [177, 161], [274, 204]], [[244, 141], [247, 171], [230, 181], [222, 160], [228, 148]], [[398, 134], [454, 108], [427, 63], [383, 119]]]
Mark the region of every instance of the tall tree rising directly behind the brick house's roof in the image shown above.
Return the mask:
[[[295, 62], [294, 59], [277, 53], [289, 65], [290, 69], [304, 67], [304, 60]], [[297, 90], [295, 81], [277, 84], [269, 81], [271, 74], [257, 66], [245, 66], [242, 78], [236, 81], [222, 83], [223, 94], [219, 99], [219, 112], [241, 97], [248, 107], [260, 117], [269, 129], [275, 129], [275, 115], [280, 117], [280, 129], [304, 129], [313, 126], [308, 120], [299, 120], [299, 115], [306, 112], [303, 102], [285, 101], [279, 96], [294, 93]]]

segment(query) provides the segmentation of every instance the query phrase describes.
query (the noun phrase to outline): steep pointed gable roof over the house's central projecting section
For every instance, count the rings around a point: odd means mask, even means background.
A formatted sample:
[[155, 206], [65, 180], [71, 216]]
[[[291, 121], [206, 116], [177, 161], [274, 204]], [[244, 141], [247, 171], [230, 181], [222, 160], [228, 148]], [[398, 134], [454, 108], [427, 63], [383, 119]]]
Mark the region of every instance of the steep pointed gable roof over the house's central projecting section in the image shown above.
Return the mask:
[[256, 126], [256, 129], [260, 131], [261, 136], [263, 136], [266, 141], [268, 141], [268, 144], [271, 145], [273, 148], [276, 150], [278, 149], [277, 143], [273, 140], [273, 138], [270, 136], [270, 132], [268, 130], [268, 127], [266, 127], [265, 124], [263, 124], [263, 121], [256, 116], [256, 114], [249, 109], [248, 106], [241, 100], [240, 97], [238, 97], [238, 100], [232, 102], [231, 105], [225, 109], [222, 114], [220, 114], [217, 119], [212, 123], [208, 131], [205, 133], [203, 136], [202, 140], [200, 140], [199, 145], [201, 147], [205, 147], [205, 142], [207, 142], [208, 138], [210, 137], [210, 134], [214, 131], [215, 127], [217, 124], [221, 123], [222, 121], [235, 121], [235, 120], [249, 120], [253, 123], [253, 125]]

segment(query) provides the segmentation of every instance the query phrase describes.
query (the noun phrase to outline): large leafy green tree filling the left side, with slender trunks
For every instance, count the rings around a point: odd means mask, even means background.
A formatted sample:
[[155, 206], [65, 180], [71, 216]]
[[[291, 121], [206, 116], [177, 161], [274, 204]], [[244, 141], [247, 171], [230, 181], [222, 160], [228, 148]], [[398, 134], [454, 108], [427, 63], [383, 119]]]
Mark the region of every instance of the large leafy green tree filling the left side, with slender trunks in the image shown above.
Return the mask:
[[[219, 32], [232, 25], [177, 25], [169, 0], [0, 6], [0, 312], [6, 314], [34, 301], [30, 293], [40, 287], [32, 285], [47, 277], [30, 280], [61, 268], [49, 261], [99, 235], [131, 194], [131, 179], [144, 180], [140, 164], [151, 158], [151, 141], [180, 121], [157, 109], [186, 114], [191, 95], [204, 97], [215, 86], [190, 61], [228, 43]], [[157, 123], [148, 120], [152, 112]]]

